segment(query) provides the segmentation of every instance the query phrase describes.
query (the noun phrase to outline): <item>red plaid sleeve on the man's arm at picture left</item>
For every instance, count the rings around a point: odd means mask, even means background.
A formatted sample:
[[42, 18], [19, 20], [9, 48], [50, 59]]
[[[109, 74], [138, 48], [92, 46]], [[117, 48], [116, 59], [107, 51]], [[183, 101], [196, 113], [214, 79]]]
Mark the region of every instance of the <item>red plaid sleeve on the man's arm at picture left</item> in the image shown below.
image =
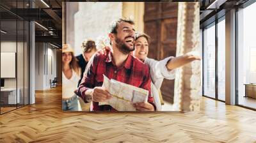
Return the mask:
[[88, 89], [92, 89], [95, 86], [95, 74], [97, 70], [97, 57], [93, 56], [88, 62], [86, 69], [84, 71], [83, 79], [81, 80], [81, 84], [75, 91], [75, 93], [83, 99], [85, 103], [91, 102], [92, 97], [86, 96], [85, 92]]

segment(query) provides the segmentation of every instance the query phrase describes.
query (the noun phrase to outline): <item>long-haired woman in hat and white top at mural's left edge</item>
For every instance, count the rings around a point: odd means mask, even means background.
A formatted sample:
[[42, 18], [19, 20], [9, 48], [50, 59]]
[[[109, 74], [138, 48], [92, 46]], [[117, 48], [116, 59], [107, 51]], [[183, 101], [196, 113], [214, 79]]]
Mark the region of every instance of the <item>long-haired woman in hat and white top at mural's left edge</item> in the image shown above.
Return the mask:
[[79, 100], [74, 91], [77, 89], [77, 83], [80, 79], [81, 69], [74, 56], [74, 50], [70, 45], [65, 44], [62, 47], [62, 110], [81, 110]]

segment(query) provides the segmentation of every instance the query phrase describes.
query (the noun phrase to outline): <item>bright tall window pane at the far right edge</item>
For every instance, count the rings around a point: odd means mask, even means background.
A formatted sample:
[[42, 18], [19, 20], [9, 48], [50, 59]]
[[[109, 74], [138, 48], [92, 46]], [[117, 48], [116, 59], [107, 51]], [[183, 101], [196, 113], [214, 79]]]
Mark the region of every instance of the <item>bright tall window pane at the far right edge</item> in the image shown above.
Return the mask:
[[[256, 3], [237, 11], [237, 88], [238, 104], [256, 109]], [[245, 89], [247, 85], [250, 89]], [[247, 86], [247, 87], [249, 87]]]

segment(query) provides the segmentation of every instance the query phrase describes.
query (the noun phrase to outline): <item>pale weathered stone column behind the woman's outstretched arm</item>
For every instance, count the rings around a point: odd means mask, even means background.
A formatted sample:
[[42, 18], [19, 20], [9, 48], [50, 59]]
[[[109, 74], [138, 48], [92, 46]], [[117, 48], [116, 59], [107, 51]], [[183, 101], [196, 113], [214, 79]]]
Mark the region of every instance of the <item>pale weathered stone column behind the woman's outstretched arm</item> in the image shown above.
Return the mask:
[[[176, 56], [200, 53], [199, 3], [179, 3]], [[178, 68], [175, 76], [174, 110], [200, 110], [200, 61]]]

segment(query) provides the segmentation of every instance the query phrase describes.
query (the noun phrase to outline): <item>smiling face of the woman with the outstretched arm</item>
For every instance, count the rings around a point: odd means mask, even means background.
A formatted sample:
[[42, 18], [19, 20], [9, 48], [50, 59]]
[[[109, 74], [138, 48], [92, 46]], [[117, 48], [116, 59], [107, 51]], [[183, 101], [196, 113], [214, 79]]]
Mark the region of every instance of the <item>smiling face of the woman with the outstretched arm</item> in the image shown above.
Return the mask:
[[140, 59], [141, 61], [145, 61], [145, 58], [148, 55], [148, 40], [144, 36], [141, 36], [135, 41], [135, 50], [133, 55]]

